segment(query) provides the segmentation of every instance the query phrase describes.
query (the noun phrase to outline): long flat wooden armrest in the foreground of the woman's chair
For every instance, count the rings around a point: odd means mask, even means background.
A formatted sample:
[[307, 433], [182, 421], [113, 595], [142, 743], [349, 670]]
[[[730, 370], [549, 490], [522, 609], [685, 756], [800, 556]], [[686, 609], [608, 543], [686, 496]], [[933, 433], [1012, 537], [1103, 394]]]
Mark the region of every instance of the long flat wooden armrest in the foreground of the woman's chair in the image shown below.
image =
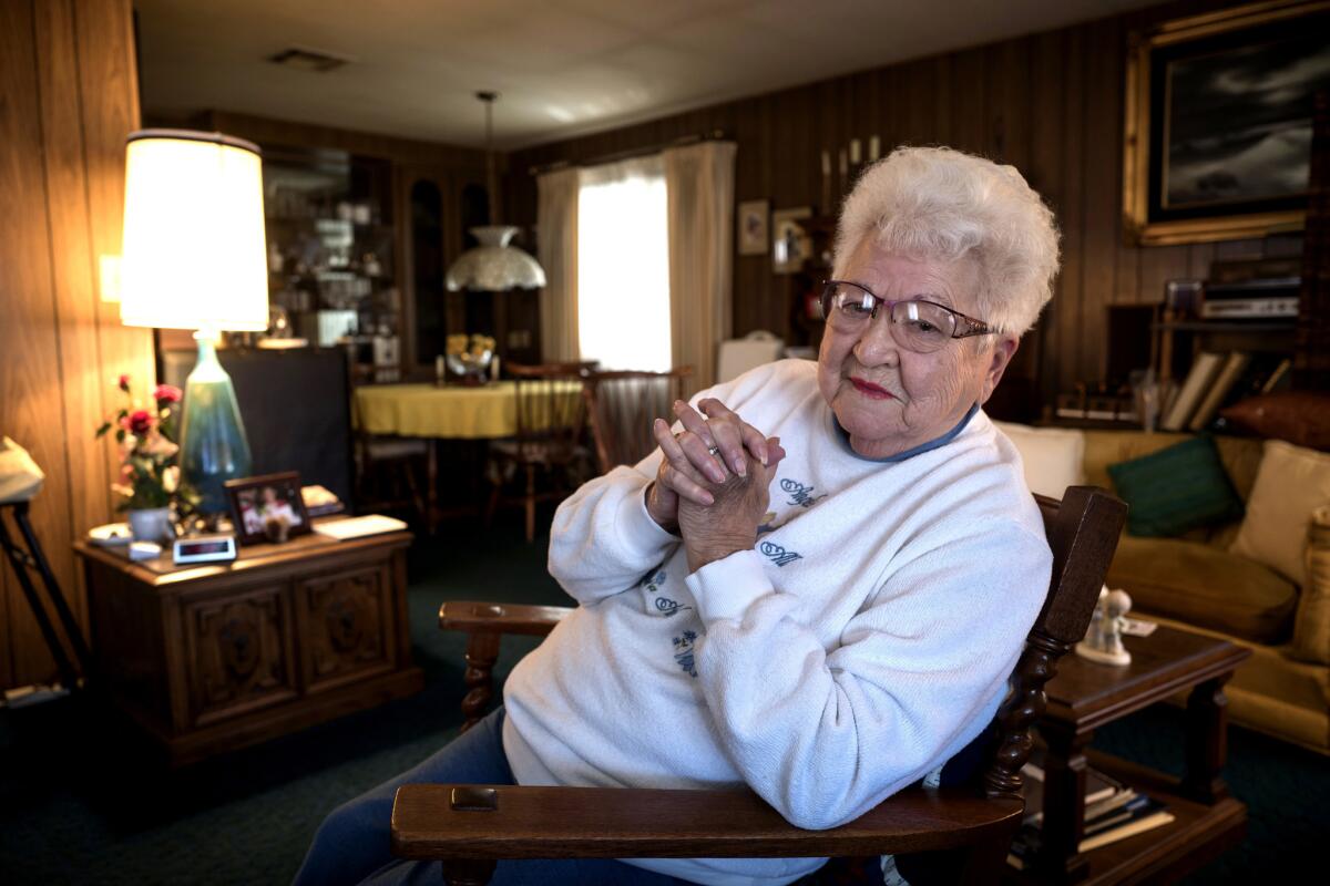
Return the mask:
[[749, 790], [415, 784], [394, 800], [392, 851], [416, 859], [895, 854], [1009, 842], [1023, 810], [1020, 800], [972, 789], [910, 788], [846, 825], [803, 830]]

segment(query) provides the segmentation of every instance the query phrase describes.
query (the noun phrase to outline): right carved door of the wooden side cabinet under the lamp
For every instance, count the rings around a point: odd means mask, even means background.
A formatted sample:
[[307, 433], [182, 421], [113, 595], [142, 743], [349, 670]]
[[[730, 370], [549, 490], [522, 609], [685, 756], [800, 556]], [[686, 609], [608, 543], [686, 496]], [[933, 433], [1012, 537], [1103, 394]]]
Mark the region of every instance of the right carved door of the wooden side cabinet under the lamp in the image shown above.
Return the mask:
[[295, 600], [306, 692], [392, 669], [398, 650], [387, 561], [301, 579]]

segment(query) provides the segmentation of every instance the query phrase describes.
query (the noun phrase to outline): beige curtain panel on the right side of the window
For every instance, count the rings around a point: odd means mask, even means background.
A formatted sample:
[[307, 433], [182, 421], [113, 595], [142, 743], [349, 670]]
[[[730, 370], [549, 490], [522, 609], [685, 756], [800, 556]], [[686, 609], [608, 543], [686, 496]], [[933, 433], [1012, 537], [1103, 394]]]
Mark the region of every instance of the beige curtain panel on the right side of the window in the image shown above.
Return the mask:
[[670, 147], [670, 332], [674, 365], [692, 365], [688, 393], [716, 383], [716, 352], [730, 337], [734, 248], [733, 142]]

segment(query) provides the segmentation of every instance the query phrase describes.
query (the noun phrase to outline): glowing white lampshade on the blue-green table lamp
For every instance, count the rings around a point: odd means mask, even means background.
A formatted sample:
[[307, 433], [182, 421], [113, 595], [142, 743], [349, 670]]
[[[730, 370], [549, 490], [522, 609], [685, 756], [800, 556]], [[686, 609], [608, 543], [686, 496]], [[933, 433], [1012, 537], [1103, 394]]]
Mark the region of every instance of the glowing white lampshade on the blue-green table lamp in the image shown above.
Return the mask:
[[132, 133], [124, 238], [120, 319], [126, 325], [267, 328], [257, 145], [219, 133]]

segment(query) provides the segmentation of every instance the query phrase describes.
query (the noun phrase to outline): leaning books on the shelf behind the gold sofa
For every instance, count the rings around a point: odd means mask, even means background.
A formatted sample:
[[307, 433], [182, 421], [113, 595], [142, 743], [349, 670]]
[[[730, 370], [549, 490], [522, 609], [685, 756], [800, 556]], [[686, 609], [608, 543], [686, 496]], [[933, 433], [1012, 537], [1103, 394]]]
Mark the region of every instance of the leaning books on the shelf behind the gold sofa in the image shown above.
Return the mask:
[[1205, 430], [1214, 424], [1220, 409], [1287, 385], [1290, 367], [1291, 360], [1275, 353], [1202, 351], [1172, 402], [1160, 412], [1160, 428]]

